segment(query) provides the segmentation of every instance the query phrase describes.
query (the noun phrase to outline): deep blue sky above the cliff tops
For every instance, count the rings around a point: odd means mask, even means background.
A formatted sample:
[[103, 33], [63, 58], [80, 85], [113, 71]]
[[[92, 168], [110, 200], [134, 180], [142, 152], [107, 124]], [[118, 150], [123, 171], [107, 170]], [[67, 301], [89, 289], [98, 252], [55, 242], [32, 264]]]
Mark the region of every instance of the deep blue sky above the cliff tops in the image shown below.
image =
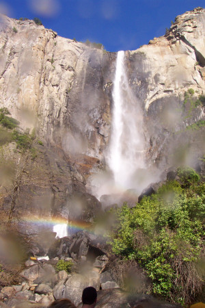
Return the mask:
[[204, 0], [0, 0], [13, 18], [40, 18], [59, 36], [100, 42], [107, 51], [137, 49], [165, 34], [174, 18]]

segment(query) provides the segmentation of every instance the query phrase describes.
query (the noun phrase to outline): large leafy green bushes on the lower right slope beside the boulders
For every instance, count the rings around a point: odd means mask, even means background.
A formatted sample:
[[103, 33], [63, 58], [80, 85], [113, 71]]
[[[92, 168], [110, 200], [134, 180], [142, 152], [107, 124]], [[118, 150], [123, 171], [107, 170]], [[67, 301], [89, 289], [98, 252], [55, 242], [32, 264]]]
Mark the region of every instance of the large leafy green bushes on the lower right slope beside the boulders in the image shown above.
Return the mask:
[[[202, 290], [205, 185], [191, 168], [178, 169], [181, 185], [167, 181], [118, 217], [109, 233], [115, 255], [135, 260], [152, 280], [152, 294], [182, 304]], [[189, 277], [189, 279], [187, 279]]]

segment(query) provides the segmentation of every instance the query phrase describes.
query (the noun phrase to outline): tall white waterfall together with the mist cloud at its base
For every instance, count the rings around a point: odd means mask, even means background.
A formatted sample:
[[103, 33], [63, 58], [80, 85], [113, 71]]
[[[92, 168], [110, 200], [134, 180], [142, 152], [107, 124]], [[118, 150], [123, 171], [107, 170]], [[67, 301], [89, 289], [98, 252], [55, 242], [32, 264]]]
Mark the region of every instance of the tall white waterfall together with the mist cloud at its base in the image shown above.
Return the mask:
[[[107, 170], [94, 176], [95, 194], [102, 201], [112, 195], [109, 203], [135, 198], [152, 180], [145, 166], [143, 114], [140, 102], [128, 83], [125, 53], [119, 51], [113, 81], [111, 138], [106, 154]], [[101, 198], [100, 198], [101, 197]]]

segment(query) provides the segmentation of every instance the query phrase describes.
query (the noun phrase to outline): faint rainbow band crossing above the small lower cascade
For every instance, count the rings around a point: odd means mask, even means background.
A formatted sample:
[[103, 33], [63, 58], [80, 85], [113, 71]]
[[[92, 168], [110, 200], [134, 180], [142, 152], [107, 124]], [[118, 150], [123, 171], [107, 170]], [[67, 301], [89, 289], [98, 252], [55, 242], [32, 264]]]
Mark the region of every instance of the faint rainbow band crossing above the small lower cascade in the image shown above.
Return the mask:
[[93, 231], [93, 224], [90, 222], [84, 222], [82, 220], [66, 220], [63, 217], [46, 217], [46, 216], [23, 216], [21, 221], [25, 221], [30, 224], [37, 224], [42, 226], [53, 227], [56, 224], [67, 224], [68, 228], [72, 231]]

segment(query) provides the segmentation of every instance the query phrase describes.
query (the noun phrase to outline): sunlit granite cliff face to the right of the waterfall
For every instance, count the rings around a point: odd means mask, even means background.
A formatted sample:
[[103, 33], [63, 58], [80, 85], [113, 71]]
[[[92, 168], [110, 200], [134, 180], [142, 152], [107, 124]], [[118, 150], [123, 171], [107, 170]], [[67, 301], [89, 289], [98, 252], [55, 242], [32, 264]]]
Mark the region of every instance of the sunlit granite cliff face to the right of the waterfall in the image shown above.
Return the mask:
[[127, 53], [130, 85], [144, 111], [147, 165], [193, 166], [204, 153], [204, 130], [187, 132], [204, 118], [204, 107], [184, 103], [190, 88], [195, 97], [204, 94], [204, 31], [205, 12], [198, 8], [178, 16], [165, 36]]

